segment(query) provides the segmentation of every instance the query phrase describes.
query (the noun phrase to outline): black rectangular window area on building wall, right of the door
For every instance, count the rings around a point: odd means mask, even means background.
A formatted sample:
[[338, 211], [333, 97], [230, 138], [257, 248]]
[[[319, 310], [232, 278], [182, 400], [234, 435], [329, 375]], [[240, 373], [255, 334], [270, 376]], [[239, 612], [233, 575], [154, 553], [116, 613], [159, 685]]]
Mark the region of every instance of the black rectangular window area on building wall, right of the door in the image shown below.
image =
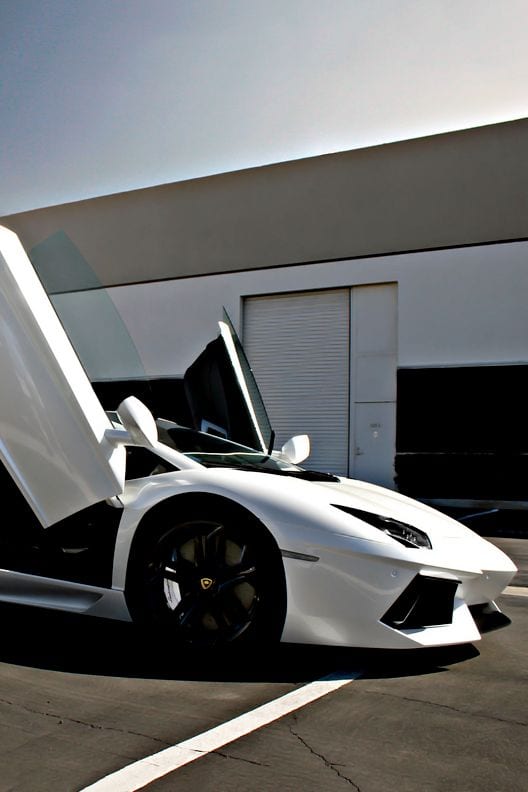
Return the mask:
[[402, 492], [526, 499], [528, 366], [400, 369], [397, 416]]

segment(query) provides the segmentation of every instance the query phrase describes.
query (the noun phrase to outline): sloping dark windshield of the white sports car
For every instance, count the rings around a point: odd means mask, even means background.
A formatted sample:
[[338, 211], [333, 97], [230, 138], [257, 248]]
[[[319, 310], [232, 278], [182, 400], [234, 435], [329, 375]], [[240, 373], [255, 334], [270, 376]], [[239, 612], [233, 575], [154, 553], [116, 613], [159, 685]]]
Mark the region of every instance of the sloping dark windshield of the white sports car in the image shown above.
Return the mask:
[[175, 448], [204, 467], [228, 467], [277, 473], [310, 481], [335, 479], [328, 473], [304, 470], [291, 462], [234, 443], [224, 437], [178, 426], [171, 421], [158, 420], [157, 425], [159, 439], [162, 443]]

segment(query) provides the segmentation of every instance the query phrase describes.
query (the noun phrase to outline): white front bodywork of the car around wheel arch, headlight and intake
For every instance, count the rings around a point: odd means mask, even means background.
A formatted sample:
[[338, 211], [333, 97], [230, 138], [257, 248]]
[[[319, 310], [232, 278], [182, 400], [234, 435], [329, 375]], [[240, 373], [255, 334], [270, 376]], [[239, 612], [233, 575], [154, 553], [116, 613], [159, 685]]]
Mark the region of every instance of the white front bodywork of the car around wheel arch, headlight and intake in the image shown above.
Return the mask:
[[[287, 614], [282, 640], [337, 646], [411, 648], [476, 641], [468, 606], [492, 603], [516, 568], [480, 536], [430, 507], [381, 487], [342, 479], [313, 483], [231, 469], [165, 473], [127, 483], [114, 560], [123, 589], [130, 545], [142, 517], [164, 500], [210, 494], [236, 501], [271, 531], [284, 557]], [[336, 509], [343, 503], [387, 513], [430, 533], [433, 549], [403, 547]], [[438, 549], [436, 549], [438, 547]], [[416, 575], [459, 581], [453, 622], [398, 631], [380, 619]]]

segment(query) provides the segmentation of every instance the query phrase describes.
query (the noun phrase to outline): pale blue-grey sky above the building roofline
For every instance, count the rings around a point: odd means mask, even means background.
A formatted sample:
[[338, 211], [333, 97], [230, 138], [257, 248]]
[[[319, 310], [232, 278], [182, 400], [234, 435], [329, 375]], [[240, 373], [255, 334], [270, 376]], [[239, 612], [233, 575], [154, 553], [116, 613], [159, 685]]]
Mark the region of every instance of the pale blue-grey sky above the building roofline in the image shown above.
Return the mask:
[[528, 116], [528, 0], [0, 0], [0, 216]]

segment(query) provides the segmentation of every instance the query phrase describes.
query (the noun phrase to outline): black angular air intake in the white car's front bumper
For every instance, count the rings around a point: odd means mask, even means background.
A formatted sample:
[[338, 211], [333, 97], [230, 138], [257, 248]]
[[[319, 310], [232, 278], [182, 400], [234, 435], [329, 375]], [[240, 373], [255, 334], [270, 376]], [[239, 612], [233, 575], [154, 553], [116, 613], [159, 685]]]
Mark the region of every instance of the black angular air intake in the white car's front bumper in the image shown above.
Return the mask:
[[458, 580], [417, 575], [381, 618], [395, 630], [451, 624]]

